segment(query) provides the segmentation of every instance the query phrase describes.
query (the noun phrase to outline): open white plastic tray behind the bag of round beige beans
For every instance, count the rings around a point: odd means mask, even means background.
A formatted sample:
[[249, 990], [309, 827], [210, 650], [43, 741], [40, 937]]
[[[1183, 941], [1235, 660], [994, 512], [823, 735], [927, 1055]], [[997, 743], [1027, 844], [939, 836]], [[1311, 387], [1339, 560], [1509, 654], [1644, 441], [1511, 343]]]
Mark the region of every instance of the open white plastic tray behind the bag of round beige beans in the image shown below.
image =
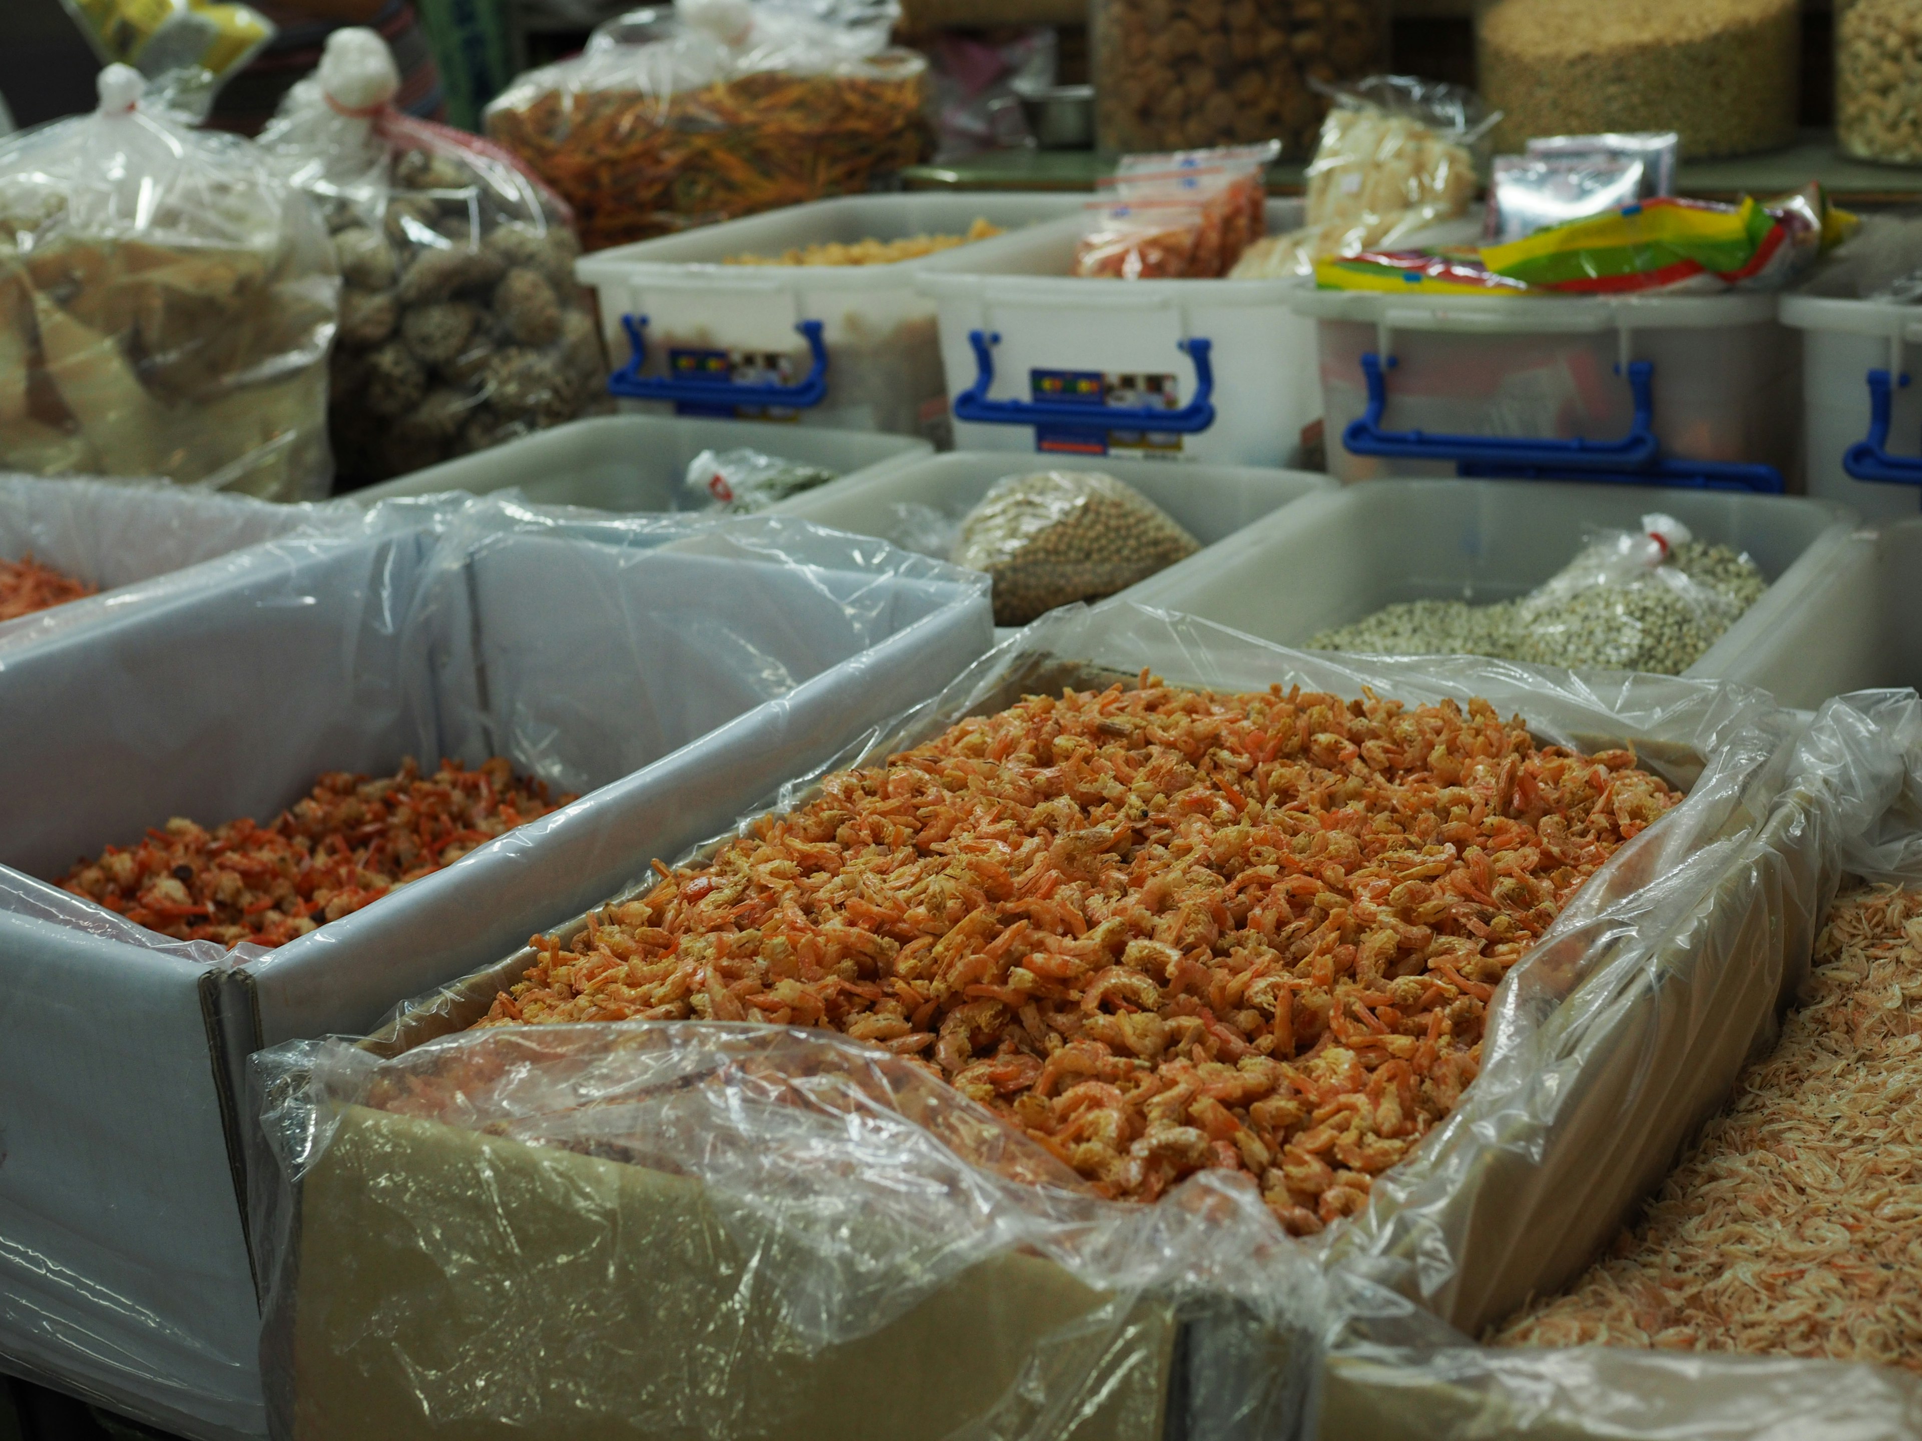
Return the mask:
[[[1044, 467], [1011, 459], [1005, 452], [957, 450], [867, 476], [848, 476], [784, 500], [773, 511], [857, 536], [896, 540], [896, 505], [930, 505], [959, 521], [996, 480], [1036, 469]], [[1203, 546], [1226, 540], [1303, 496], [1334, 490], [1334, 480], [1324, 475], [1253, 465], [1169, 465], [1113, 457], [1103, 459], [1099, 469], [1140, 490]]]

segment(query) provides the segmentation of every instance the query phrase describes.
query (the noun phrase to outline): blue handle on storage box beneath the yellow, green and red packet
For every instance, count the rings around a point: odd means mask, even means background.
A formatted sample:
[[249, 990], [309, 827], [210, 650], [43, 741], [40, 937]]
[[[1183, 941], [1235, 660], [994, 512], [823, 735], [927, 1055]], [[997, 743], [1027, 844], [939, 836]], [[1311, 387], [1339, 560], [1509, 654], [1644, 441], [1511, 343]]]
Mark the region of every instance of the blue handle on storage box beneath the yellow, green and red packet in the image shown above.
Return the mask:
[[1655, 367], [1649, 361], [1616, 365], [1616, 375], [1628, 380], [1634, 419], [1628, 434], [1618, 440], [1570, 440], [1532, 436], [1461, 436], [1430, 430], [1388, 430], [1382, 411], [1388, 407], [1386, 361], [1374, 352], [1361, 357], [1361, 375], [1368, 386], [1368, 403], [1361, 419], [1342, 430], [1342, 444], [1355, 455], [1386, 455], [1407, 461], [1455, 461], [1457, 475], [1497, 476], [1513, 480], [1595, 480], [1638, 486], [1697, 486], [1711, 490], [1761, 490], [1782, 494], [1787, 486], [1774, 465], [1737, 461], [1689, 461], [1661, 453], [1655, 440]]

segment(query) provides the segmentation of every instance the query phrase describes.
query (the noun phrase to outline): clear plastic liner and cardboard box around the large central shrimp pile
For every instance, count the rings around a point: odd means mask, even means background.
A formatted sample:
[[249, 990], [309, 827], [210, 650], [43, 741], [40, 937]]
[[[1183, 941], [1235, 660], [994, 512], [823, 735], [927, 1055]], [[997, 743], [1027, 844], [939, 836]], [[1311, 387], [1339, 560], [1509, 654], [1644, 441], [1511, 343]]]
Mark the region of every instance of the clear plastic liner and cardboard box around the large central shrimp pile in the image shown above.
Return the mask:
[[[1367, 1253], [1392, 1220], [1390, 1191], [1420, 1207], [1420, 1187], [1442, 1172], [1468, 1187], [1474, 1212], [1478, 1178], [1447, 1164], [1463, 1145], [1499, 1141], [1501, 1128], [1593, 1130], [1638, 1114], [1634, 1086], [1624, 1095], [1589, 1080], [1605, 1055], [1545, 1055], [1543, 1038], [1607, 1028], [1639, 980], [1676, 965], [1678, 938], [1807, 936], [1816, 851], [1839, 801], [1811, 792], [1795, 826], [1772, 828], [1799, 720], [1724, 682], [1472, 657], [1342, 663], [1115, 601], [1057, 611], [1011, 638], [861, 759], [1021, 694], [1130, 680], [1144, 667], [1228, 690], [1482, 696], [1547, 742], [1634, 744], [1689, 792], [1511, 970], [1503, 1032], [1466, 1093], [1466, 1120], [1405, 1162], [1409, 1182], [1378, 1182], [1365, 1226], [1290, 1241], [1245, 1178], [1207, 1172], [1153, 1207], [1090, 1201], [990, 1114], [819, 1032], [456, 1030], [515, 970], [507, 959], [404, 1009], [367, 1049], [329, 1039], [256, 1057], [256, 1105], [281, 1164], [281, 1189], [259, 1197], [256, 1222], [269, 1251], [263, 1356], [281, 1433], [352, 1435], [379, 1416], [463, 1428], [486, 1418], [536, 1435], [588, 1418], [613, 1429], [634, 1418], [646, 1433], [857, 1433], [878, 1424], [863, 1420], [865, 1404], [886, 1383], [888, 1418], [907, 1428], [892, 1433], [1288, 1435], [1309, 1399], [1317, 1337], [1338, 1314], [1322, 1278], [1359, 1276], [1409, 1308], [1384, 1289], [1392, 1276], [1340, 1260]], [[1764, 838], [1787, 857], [1780, 882], [1724, 901]], [[1761, 970], [1766, 1011], [1780, 968]], [[1689, 1036], [1649, 1043], [1666, 1076]], [[1528, 1070], [1538, 1061], [1553, 1062], [1540, 1082]], [[1555, 1101], [1576, 1114], [1557, 1116]], [[1540, 1149], [1526, 1136], [1518, 1145]], [[1424, 1224], [1422, 1268], [1411, 1270], [1442, 1285], [1453, 1276], [1449, 1232], [1417, 1210], [1411, 1226]], [[1036, 1260], [1051, 1268], [1028, 1270]], [[1099, 1301], [1061, 1314], [1023, 1293], [1005, 1322], [1019, 1335], [996, 1333], [1017, 1355], [982, 1356], [978, 1331], [961, 1343], [971, 1287], [1013, 1285], [1001, 1268], [1023, 1268], [1034, 1295], [1065, 1285], [1065, 1272]], [[627, 1289], [634, 1276], [652, 1278], [640, 1295]], [[1538, 1264], [1520, 1280], [1557, 1278]], [[1144, 1308], [1159, 1326], [1140, 1322]], [[1124, 1374], [1167, 1380], [1134, 1391]]]

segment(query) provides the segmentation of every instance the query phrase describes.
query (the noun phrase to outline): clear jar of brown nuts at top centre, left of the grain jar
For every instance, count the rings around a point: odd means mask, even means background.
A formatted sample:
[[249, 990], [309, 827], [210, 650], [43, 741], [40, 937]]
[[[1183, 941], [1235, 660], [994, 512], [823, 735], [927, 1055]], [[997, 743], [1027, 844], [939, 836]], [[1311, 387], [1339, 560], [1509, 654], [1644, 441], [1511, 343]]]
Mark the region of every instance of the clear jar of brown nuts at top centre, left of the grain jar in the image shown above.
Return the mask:
[[1182, 150], [1278, 138], [1309, 154], [1309, 79], [1388, 67], [1388, 0], [1092, 0], [1096, 142]]

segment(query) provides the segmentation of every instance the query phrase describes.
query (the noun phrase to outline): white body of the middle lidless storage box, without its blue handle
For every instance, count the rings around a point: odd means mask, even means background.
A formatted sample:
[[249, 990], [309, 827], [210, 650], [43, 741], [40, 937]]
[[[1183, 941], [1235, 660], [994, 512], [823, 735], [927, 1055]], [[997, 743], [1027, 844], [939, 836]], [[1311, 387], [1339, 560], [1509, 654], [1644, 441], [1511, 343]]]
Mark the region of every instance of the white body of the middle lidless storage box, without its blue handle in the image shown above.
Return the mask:
[[[1299, 229], [1301, 202], [1270, 200], [1269, 234]], [[1301, 279], [1109, 281], [1072, 275], [1082, 217], [1042, 225], [992, 248], [930, 257], [917, 275], [940, 311], [949, 407], [974, 384], [969, 334], [998, 334], [990, 400], [1032, 400], [1032, 371], [1109, 377], [1172, 375], [1174, 398], [1195, 394], [1184, 340], [1207, 340], [1215, 421], [1180, 436], [1170, 459], [1209, 465], [1292, 465], [1301, 430], [1320, 413], [1315, 334], [1288, 298]], [[1032, 425], [955, 421], [959, 450], [1038, 448]]]

